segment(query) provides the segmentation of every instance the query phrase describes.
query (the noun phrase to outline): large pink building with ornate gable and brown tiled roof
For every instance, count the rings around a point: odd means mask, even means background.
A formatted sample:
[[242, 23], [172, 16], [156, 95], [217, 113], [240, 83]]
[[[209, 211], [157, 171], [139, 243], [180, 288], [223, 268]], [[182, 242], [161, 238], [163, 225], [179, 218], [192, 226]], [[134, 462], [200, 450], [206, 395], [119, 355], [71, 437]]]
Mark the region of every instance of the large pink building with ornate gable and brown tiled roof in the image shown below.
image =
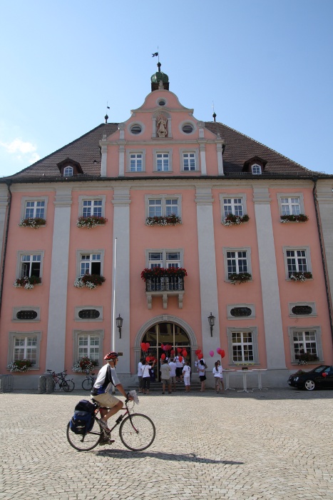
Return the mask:
[[157, 359], [186, 349], [194, 374], [195, 351], [211, 372], [221, 348], [224, 369], [267, 369], [269, 387], [300, 359], [333, 364], [332, 177], [199, 121], [160, 68], [151, 84], [127, 121], [1, 179], [0, 373], [29, 359], [17, 388], [46, 369], [79, 387], [73, 366], [115, 349], [130, 385], [147, 342]]

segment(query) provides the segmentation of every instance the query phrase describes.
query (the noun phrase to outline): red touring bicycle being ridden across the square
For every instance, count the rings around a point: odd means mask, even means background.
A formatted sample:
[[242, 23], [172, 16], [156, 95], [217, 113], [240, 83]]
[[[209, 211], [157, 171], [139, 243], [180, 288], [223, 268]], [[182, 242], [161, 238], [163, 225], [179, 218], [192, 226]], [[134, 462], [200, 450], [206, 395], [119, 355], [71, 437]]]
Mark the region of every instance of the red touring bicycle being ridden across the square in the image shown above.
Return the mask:
[[[128, 406], [133, 403], [132, 406]], [[95, 448], [98, 444], [112, 444], [114, 441], [111, 439], [111, 432], [116, 429], [119, 424], [119, 436], [121, 442], [126, 448], [132, 451], [143, 451], [153, 443], [155, 439], [155, 425], [153, 421], [146, 415], [133, 413], [134, 401], [125, 400], [125, 411], [118, 416], [116, 424], [112, 429], [106, 431], [99, 424], [97, 417], [98, 411], [101, 406], [93, 399], [95, 406], [93, 415], [93, 427], [91, 431], [86, 434], [74, 434], [71, 431], [70, 424], [67, 426], [67, 439], [68, 443], [78, 451], [89, 451]]]

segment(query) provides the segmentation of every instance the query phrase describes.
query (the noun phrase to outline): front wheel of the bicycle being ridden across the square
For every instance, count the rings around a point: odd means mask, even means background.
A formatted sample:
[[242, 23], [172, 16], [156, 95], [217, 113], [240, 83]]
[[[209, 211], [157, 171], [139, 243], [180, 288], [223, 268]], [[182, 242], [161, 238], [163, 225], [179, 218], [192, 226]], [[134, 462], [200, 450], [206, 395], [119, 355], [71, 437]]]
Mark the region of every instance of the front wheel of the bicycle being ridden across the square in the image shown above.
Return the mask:
[[119, 436], [126, 448], [142, 451], [153, 443], [155, 432], [155, 425], [148, 416], [134, 413], [121, 422]]

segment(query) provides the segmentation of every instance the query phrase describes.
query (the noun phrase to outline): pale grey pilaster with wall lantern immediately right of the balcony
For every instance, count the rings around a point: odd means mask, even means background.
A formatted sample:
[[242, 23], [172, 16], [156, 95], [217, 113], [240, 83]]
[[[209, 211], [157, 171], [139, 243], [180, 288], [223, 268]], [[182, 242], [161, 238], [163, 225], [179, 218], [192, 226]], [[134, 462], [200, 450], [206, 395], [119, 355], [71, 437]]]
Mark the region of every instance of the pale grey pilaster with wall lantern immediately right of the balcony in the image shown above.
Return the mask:
[[[203, 354], [208, 368], [209, 351], [220, 344], [220, 321], [218, 314], [216, 258], [214, 242], [214, 225], [212, 218], [212, 190], [208, 187], [197, 188], [195, 202], [197, 204], [198, 251], [201, 299], [201, 331], [203, 332]], [[222, 259], [222, 255], [221, 255]], [[210, 336], [208, 316], [215, 316], [213, 334]]]

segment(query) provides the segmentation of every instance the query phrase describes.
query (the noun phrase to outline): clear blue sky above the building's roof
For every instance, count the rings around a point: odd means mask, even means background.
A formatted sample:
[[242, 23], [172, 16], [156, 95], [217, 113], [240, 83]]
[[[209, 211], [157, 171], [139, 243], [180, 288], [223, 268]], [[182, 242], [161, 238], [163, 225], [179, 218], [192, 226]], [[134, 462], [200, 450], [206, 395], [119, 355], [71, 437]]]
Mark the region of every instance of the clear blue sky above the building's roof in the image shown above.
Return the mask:
[[[0, 176], [130, 117], [162, 71], [216, 120], [333, 174], [332, 0], [0, 0]], [[107, 109], [109, 106], [110, 109]]]

